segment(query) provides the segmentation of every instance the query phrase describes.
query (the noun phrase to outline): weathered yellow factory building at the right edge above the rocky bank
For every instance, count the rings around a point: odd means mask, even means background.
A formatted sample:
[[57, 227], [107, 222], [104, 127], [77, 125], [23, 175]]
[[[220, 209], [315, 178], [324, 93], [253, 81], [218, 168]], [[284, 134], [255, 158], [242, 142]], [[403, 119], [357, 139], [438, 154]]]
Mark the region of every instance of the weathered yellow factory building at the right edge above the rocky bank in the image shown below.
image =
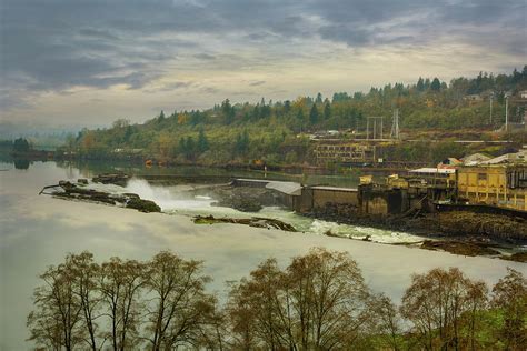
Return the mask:
[[[385, 183], [367, 179], [359, 188], [365, 193], [375, 190], [378, 193], [401, 192], [404, 203], [396, 208], [402, 211], [479, 205], [524, 211], [527, 214], [527, 147], [497, 158], [483, 154], [473, 154], [463, 160], [450, 158], [436, 168], [420, 168], [402, 176], [390, 176]], [[386, 213], [390, 213], [389, 208]]]

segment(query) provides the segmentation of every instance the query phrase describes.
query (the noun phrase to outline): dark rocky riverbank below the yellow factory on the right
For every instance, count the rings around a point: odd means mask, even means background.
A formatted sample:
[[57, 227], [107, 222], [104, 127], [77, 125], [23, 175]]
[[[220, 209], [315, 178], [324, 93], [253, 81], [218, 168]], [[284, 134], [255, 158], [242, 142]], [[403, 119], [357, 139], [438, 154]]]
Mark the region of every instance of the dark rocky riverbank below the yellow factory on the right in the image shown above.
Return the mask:
[[521, 218], [481, 214], [468, 211], [421, 213], [418, 217], [344, 215], [316, 211], [306, 217], [337, 223], [404, 231], [424, 238], [418, 245], [427, 250], [463, 255], [498, 257], [527, 262], [524, 252], [501, 254], [505, 250], [527, 245], [527, 222]]

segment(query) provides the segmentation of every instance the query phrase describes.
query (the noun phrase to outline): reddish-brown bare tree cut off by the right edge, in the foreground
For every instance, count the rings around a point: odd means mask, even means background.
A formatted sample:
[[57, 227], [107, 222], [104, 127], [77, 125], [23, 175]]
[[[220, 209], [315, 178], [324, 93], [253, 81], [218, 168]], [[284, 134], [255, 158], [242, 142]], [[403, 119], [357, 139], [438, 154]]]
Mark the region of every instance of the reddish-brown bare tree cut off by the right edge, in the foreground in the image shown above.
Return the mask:
[[503, 313], [504, 323], [497, 340], [506, 350], [527, 349], [527, 279], [508, 268], [508, 273], [493, 288], [494, 308]]

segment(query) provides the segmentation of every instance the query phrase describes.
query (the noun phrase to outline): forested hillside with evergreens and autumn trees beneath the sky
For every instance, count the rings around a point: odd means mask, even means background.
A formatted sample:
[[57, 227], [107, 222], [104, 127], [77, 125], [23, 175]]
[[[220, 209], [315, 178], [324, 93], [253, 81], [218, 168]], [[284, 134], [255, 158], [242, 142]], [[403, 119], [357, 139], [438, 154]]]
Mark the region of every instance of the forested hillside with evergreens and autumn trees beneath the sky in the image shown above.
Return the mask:
[[[109, 129], [84, 129], [70, 137], [63, 149], [84, 158], [140, 154], [202, 164], [255, 160], [269, 164], [310, 163], [312, 153], [305, 133], [341, 130], [349, 137], [357, 136], [364, 133], [367, 117], [384, 116], [386, 136], [395, 108], [400, 111], [402, 130], [414, 134], [430, 129], [493, 130], [505, 120], [505, 94], [526, 89], [527, 66], [511, 74], [481, 72], [476, 78], [453, 79], [448, 84], [438, 78], [419, 78], [414, 84], [386, 84], [367, 93], [337, 92], [331, 98], [320, 93], [286, 101], [262, 98], [256, 104], [227, 99], [203, 111], [161, 111], [142, 124], [120, 119]], [[524, 112], [524, 107], [509, 103], [510, 121], [519, 121]]]

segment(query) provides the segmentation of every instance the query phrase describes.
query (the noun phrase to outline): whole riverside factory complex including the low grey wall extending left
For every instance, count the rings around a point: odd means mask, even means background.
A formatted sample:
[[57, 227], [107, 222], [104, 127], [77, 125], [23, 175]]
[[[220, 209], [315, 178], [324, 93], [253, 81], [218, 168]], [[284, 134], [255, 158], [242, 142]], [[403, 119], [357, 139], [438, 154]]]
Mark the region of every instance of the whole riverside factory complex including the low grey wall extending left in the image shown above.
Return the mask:
[[449, 158], [436, 168], [382, 179], [362, 176], [355, 189], [268, 180], [233, 183], [268, 188], [281, 204], [300, 213], [330, 209], [341, 215], [405, 217], [464, 209], [527, 218], [527, 147], [498, 158]]

